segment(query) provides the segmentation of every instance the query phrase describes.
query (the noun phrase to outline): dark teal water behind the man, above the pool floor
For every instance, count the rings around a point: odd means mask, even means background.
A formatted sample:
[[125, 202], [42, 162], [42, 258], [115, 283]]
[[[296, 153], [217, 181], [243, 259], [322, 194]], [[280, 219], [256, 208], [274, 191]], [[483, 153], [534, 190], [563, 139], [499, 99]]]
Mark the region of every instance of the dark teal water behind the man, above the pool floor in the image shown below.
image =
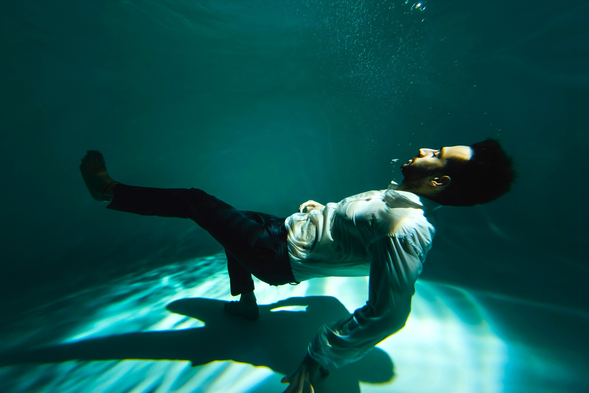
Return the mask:
[[220, 251], [192, 221], [93, 201], [88, 149], [125, 184], [286, 217], [401, 182], [418, 148], [487, 136], [519, 178], [491, 204], [439, 211], [421, 277], [586, 315], [588, 3], [412, 4], [1, 2], [4, 328]]

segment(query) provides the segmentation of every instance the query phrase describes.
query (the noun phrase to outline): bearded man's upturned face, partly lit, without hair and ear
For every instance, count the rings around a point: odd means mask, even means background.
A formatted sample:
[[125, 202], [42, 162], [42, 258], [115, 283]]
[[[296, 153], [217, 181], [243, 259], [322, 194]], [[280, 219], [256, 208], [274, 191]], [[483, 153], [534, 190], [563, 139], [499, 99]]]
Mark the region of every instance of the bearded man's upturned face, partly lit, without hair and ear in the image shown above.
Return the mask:
[[401, 165], [401, 171], [408, 181], [415, 181], [427, 175], [441, 172], [449, 159], [471, 159], [470, 146], [449, 146], [439, 150], [419, 149], [419, 154]]

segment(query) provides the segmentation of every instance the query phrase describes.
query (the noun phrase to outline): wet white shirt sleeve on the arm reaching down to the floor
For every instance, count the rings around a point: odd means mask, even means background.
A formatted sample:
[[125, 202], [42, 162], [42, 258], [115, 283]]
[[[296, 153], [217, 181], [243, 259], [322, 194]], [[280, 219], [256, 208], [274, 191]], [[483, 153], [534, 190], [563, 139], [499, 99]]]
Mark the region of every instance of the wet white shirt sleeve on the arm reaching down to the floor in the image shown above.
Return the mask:
[[383, 339], [399, 331], [411, 311], [415, 281], [422, 270], [419, 248], [410, 236], [388, 234], [368, 247], [368, 301], [349, 317], [319, 328], [309, 355], [336, 368], [357, 361]]

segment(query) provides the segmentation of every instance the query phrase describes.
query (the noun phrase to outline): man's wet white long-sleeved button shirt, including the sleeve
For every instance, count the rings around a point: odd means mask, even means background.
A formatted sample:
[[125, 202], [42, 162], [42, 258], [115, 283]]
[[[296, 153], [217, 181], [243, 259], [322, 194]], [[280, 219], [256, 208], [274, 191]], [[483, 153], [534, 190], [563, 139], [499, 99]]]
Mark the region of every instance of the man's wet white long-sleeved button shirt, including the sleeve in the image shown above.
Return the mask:
[[290, 267], [296, 281], [313, 277], [369, 278], [368, 301], [319, 328], [309, 355], [340, 368], [405, 326], [414, 284], [431, 248], [437, 202], [406, 191], [367, 191], [325, 208], [286, 218]]

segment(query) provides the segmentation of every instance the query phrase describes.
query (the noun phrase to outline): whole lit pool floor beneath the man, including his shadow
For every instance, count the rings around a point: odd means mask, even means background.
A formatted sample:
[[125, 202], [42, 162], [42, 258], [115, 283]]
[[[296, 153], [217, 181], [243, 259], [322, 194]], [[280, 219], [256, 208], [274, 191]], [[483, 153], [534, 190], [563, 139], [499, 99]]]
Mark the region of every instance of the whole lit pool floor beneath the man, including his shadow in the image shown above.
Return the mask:
[[[3, 347], [6, 392], [281, 392], [317, 328], [362, 307], [368, 277], [271, 287], [255, 280], [260, 319], [223, 310], [224, 254], [110, 282], [31, 313]], [[542, 315], [542, 317], [538, 317]], [[365, 358], [317, 377], [319, 392], [575, 391], [574, 348], [544, 345], [525, 322], [587, 315], [419, 280], [401, 331]], [[507, 321], [507, 323], [506, 323]], [[555, 326], [560, 326], [556, 324]], [[517, 329], [525, 329], [519, 332]], [[538, 326], [545, 337], [554, 327]], [[548, 330], [547, 330], [548, 329]], [[551, 330], [552, 329], [552, 330]], [[579, 329], [583, 331], [583, 329]], [[582, 338], [581, 338], [582, 339]], [[571, 340], [572, 342], [572, 340]], [[46, 347], [51, 345], [51, 347]], [[583, 385], [585, 384], [585, 385]], [[554, 389], [554, 390], [552, 390]]]

